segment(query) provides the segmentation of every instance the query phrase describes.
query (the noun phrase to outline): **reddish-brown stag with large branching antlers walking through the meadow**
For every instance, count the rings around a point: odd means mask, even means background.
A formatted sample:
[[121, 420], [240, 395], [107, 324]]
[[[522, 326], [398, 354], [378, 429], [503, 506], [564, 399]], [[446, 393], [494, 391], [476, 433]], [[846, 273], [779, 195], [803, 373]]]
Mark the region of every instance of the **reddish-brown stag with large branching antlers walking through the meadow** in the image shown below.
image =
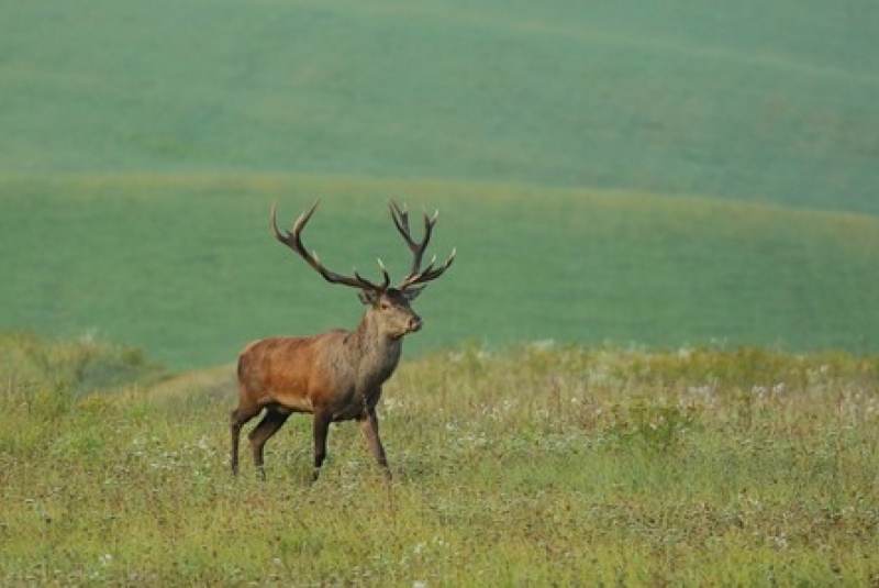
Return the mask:
[[359, 290], [366, 312], [354, 331], [334, 330], [307, 337], [271, 337], [247, 345], [238, 356], [238, 408], [232, 411], [232, 471], [238, 471], [238, 437], [242, 426], [265, 410], [263, 420], [249, 433], [254, 462], [265, 477], [263, 448], [293, 412], [313, 415], [314, 471], [318, 479], [326, 457], [326, 437], [330, 423], [357, 420], [374, 457], [390, 479], [388, 459], [378, 433], [376, 403], [381, 397], [381, 385], [391, 377], [400, 360], [403, 336], [421, 329], [422, 320], [410, 302], [421, 293], [429, 281], [442, 276], [455, 259], [438, 266], [436, 257], [421, 268], [424, 249], [438, 213], [424, 214], [424, 237], [416, 242], [409, 230], [405, 208], [390, 203], [391, 219], [414, 255], [412, 270], [397, 287], [389, 287], [388, 270], [378, 260], [383, 276], [374, 284], [356, 270], [353, 276], [331, 271], [309, 253], [302, 244], [302, 230], [314, 210], [297, 219], [292, 232], [281, 234], [271, 208], [271, 231], [275, 237], [298, 253], [312, 268], [331, 284], [351, 286]]

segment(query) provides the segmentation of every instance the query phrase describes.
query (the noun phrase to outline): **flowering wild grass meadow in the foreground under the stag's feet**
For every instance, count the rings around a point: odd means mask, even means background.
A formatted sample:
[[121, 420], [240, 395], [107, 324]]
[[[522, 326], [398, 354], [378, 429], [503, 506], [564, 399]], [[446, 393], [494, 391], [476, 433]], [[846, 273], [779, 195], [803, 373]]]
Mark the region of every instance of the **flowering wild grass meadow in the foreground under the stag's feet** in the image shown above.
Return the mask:
[[231, 477], [231, 368], [70, 398], [2, 365], [4, 585], [879, 579], [875, 356], [461, 347], [387, 386], [392, 485], [342, 424], [314, 486], [302, 417]]

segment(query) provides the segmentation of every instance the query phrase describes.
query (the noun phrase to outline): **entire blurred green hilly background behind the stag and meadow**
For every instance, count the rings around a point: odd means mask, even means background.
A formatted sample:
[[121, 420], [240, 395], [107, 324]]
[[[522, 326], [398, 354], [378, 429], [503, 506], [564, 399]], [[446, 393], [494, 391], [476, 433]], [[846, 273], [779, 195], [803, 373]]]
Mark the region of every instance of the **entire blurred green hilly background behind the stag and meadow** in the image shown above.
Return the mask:
[[399, 279], [387, 202], [457, 247], [408, 354], [879, 351], [879, 4], [0, 4], [0, 331], [175, 368], [353, 328], [274, 241]]

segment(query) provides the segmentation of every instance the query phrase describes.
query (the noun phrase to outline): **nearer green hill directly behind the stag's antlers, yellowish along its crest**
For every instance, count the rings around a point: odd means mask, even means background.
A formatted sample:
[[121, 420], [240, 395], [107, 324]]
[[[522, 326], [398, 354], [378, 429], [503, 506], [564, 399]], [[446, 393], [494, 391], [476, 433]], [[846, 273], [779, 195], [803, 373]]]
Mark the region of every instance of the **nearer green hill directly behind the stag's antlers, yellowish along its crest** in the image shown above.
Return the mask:
[[96, 176], [0, 182], [14, 279], [0, 329], [102, 337], [173, 366], [230, 362], [248, 340], [353, 326], [360, 306], [268, 230], [323, 196], [305, 234], [327, 266], [399, 279], [386, 200], [442, 210], [458, 259], [416, 303], [409, 353], [476, 341], [879, 348], [879, 219], [597, 190], [316, 177]]

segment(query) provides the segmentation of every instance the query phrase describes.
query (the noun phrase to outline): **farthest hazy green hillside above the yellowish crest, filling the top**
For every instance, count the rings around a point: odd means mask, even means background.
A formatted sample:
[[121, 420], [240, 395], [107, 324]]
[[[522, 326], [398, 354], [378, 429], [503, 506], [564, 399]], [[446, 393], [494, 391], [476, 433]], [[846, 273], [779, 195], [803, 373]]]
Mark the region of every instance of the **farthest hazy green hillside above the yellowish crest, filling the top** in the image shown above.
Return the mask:
[[875, 214], [878, 10], [5, 2], [0, 174], [344, 174]]

